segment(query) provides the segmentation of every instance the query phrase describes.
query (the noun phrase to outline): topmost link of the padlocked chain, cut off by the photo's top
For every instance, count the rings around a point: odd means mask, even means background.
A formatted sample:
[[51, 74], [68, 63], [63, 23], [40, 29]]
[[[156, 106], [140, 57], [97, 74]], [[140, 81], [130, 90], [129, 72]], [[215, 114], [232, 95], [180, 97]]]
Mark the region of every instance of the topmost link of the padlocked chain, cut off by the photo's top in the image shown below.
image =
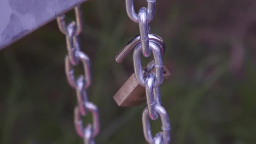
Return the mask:
[[[147, 0], [148, 7], [147, 7], [147, 22], [153, 20], [155, 16], [155, 4], [156, 0]], [[138, 14], [135, 13], [133, 0], [125, 0], [126, 3], [126, 12], [130, 19], [136, 23], [139, 23]]]

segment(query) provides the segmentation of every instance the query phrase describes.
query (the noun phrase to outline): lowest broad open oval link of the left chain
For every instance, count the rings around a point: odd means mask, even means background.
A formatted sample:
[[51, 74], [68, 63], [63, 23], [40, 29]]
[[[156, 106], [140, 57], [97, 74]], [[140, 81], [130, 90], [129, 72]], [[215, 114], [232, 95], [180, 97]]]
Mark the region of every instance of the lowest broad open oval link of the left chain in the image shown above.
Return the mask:
[[[91, 128], [91, 138], [94, 139], [95, 136], [99, 133], [100, 131], [100, 117], [98, 115], [98, 109], [97, 106], [93, 103], [90, 102], [85, 102], [84, 106], [86, 110], [90, 111], [92, 113], [92, 128]], [[77, 131], [77, 134], [80, 137], [84, 137], [85, 133], [85, 128], [83, 126], [83, 119], [82, 115], [79, 111], [79, 107], [75, 107], [74, 109], [74, 124], [75, 124], [75, 130]]]

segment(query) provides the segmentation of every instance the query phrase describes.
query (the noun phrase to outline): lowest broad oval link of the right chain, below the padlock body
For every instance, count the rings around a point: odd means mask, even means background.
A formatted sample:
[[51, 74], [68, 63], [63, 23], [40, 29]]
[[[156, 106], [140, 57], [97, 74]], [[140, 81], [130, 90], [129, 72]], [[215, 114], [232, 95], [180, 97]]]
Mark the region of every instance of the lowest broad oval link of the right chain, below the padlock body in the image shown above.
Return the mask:
[[[170, 137], [170, 131], [171, 131], [171, 125], [169, 121], [168, 114], [164, 107], [161, 105], [155, 105], [154, 107], [156, 113], [161, 118], [161, 123], [162, 123], [162, 144], [168, 144], [171, 141]], [[154, 144], [155, 137], [152, 136], [152, 131], [151, 131], [151, 126], [149, 122], [149, 109], [146, 107], [142, 113], [142, 124], [143, 124], [143, 133], [144, 137], [147, 140], [148, 143]], [[158, 136], [157, 136], [158, 137]], [[159, 139], [159, 138], [156, 138]]]

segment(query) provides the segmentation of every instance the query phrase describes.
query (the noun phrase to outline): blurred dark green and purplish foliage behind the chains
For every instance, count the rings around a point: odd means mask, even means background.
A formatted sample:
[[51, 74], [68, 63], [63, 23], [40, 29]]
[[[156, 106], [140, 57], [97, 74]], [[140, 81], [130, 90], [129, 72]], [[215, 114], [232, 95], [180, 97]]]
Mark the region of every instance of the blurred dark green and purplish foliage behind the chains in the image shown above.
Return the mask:
[[[136, 11], [143, 5], [135, 1]], [[124, 0], [90, 0], [83, 11], [80, 39], [93, 73], [89, 97], [101, 112], [96, 143], [146, 143], [146, 105], [118, 107], [112, 99], [133, 73], [131, 54], [122, 64], [115, 54], [139, 33], [138, 25], [127, 17]], [[157, 1], [150, 25], [165, 40], [164, 63], [172, 73], [161, 86], [171, 143], [255, 143], [255, 13], [256, 1], [249, 0]], [[73, 11], [67, 17], [72, 20]], [[83, 143], [73, 126], [66, 53], [56, 21], [0, 52], [0, 143]], [[152, 122], [154, 133], [160, 127]]]

